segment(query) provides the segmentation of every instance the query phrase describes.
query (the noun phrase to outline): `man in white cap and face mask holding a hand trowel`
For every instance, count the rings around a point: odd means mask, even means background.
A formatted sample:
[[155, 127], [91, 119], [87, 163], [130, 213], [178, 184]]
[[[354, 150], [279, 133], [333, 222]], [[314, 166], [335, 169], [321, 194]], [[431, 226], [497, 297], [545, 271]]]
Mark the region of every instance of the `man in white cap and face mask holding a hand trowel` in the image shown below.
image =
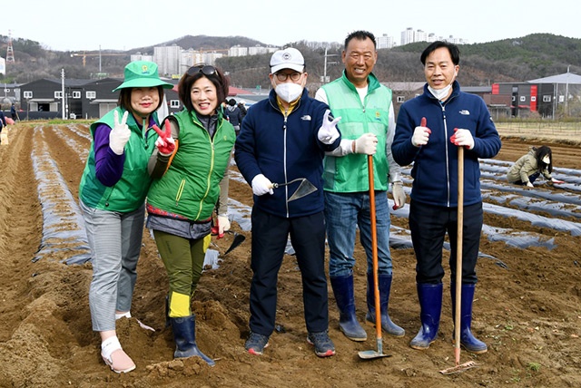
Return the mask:
[[[274, 330], [277, 277], [291, 236], [300, 268], [307, 341], [315, 354], [335, 354], [328, 335], [322, 160], [340, 144], [327, 104], [309, 97], [302, 54], [294, 48], [271, 56], [272, 91], [242, 121], [234, 158], [254, 194], [252, 208], [251, 333], [245, 347], [262, 354]], [[302, 181], [315, 188], [291, 200]], [[273, 182], [278, 183], [275, 187]]]

